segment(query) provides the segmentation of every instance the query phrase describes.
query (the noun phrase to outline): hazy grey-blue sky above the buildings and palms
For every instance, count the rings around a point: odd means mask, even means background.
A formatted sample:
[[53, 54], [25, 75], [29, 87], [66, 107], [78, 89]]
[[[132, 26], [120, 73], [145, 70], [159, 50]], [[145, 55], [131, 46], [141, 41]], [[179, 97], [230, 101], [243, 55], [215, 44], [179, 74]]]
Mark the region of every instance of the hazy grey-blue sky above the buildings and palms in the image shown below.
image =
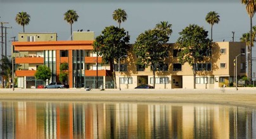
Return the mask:
[[[73, 31], [90, 30], [96, 37], [105, 27], [118, 26], [112, 18], [113, 11], [118, 8], [127, 13], [127, 20], [121, 27], [129, 31], [131, 44], [140, 33], [154, 28], [160, 21], [172, 24], [170, 43], [175, 43], [179, 32], [189, 24], [205, 28], [210, 38], [210, 25], [205, 21], [210, 11], [219, 13], [221, 20], [213, 27], [214, 42], [232, 41], [232, 32], [235, 32], [234, 41], [239, 42], [241, 35], [250, 30], [250, 18], [240, 0], [0, 0], [0, 22], [9, 22], [4, 24], [12, 27], [7, 30], [7, 40], [13, 40], [11, 37], [17, 37], [18, 32], [23, 31], [15, 22], [15, 16], [26, 11], [31, 18], [25, 32], [56, 32], [58, 40], [68, 40], [70, 25], [64, 20], [64, 13], [74, 9], [79, 19], [74, 23]], [[256, 25], [254, 18], [253, 25]], [[8, 47], [11, 47], [10, 43]], [[256, 57], [256, 49], [252, 56]]]

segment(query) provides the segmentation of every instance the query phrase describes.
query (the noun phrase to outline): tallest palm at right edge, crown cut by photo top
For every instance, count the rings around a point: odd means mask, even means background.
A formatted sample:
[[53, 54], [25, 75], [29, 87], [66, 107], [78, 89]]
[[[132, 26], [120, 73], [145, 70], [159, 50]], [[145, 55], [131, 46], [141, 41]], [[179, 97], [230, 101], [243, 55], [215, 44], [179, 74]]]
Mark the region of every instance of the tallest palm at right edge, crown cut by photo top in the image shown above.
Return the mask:
[[246, 6], [246, 11], [250, 17], [250, 46], [248, 47], [248, 77], [250, 80], [250, 84], [252, 84], [252, 42], [253, 42], [253, 34], [252, 34], [252, 18], [254, 16], [254, 13], [256, 11], [256, 1], [254, 0], [241, 0], [242, 4], [245, 4]]

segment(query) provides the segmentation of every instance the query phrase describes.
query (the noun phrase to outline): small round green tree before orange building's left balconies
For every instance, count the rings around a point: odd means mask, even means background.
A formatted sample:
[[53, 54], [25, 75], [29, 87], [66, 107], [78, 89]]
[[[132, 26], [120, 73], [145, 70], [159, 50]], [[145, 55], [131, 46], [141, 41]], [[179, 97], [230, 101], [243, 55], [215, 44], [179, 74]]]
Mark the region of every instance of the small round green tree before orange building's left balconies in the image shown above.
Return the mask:
[[37, 71], [35, 72], [35, 78], [37, 80], [43, 80], [45, 83], [46, 80], [51, 79], [51, 69], [46, 65], [38, 66]]

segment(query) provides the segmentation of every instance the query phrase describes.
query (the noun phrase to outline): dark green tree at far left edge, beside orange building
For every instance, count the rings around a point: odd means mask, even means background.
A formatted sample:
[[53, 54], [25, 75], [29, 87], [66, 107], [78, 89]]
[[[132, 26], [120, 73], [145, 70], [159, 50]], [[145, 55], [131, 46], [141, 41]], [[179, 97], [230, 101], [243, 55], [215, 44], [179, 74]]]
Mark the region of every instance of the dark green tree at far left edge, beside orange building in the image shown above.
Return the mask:
[[[1, 64], [1, 76], [8, 82], [12, 75], [12, 69], [15, 72], [15, 68], [13, 68], [13, 64], [11, 61], [11, 57], [3, 56], [3, 59], [0, 60]], [[11, 88], [11, 83], [8, 83], [9, 88]]]

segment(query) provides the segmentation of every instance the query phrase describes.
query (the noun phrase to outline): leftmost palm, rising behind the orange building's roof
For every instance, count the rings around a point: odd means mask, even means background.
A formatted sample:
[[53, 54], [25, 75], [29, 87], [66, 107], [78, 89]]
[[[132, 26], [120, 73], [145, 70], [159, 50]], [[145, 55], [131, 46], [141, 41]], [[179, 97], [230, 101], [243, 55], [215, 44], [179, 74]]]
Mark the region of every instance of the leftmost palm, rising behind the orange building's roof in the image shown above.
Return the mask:
[[29, 25], [30, 15], [27, 12], [19, 12], [15, 17], [15, 21], [18, 25], [22, 25], [23, 32], [25, 32], [25, 25]]

